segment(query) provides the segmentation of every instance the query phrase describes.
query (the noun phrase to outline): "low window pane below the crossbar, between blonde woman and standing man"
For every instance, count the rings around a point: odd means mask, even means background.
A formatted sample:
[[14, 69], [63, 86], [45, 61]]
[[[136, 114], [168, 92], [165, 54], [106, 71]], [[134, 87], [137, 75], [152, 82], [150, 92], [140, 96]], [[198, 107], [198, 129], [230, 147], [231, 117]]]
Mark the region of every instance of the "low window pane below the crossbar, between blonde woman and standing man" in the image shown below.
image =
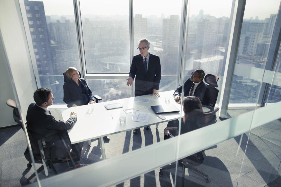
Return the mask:
[[102, 98], [99, 102], [132, 97], [131, 87], [126, 86], [123, 79], [88, 79], [87, 82], [93, 95]]

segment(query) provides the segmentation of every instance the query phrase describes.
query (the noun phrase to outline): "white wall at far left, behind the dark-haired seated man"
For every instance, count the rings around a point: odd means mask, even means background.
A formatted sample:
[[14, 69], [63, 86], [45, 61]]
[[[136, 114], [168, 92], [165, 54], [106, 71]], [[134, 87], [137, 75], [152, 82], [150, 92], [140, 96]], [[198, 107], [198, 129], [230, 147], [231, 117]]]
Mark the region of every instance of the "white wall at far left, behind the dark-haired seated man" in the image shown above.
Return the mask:
[[[22, 111], [25, 121], [28, 105], [34, 103], [33, 92], [37, 89], [37, 85], [32, 69], [18, 0], [0, 1], [0, 29], [3, 39], [1, 45], [4, 46], [7, 55], [7, 60], [5, 61], [11, 68], [12, 79], [16, 86], [16, 92], [19, 99], [19, 109]], [[2, 82], [6, 80], [7, 78], [1, 79], [1, 85]], [[7, 92], [3, 94], [7, 95], [10, 93]], [[9, 124], [6, 124], [6, 126], [7, 125]]]

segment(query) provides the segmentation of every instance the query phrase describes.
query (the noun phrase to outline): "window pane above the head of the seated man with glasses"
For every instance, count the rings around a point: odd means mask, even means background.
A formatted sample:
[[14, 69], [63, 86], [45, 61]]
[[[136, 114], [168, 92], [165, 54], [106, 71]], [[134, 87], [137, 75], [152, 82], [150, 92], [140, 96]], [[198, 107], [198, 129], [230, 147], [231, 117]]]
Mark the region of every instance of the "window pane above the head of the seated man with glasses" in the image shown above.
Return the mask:
[[232, 1], [189, 1], [183, 75], [196, 69], [224, 74]]

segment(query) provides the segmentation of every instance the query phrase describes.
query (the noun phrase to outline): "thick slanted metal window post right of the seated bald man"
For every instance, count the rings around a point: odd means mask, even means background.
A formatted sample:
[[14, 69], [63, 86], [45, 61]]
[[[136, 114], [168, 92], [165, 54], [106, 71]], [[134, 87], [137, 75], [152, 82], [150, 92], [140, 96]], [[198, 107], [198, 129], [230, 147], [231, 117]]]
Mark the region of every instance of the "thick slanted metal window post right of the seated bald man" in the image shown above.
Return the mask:
[[231, 91], [231, 84], [233, 80], [233, 73], [235, 62], [237, 58], [237, 51], [239, 46], [241, 27], [243, 22], [243, 16], [245, 11], [246, 0], [233, 0], [232, 10], [230, 14], [230, 20], [232, 24], [230, 27], [228, 39], [227, 39], [227, 55], [224, 59], [225, 72], [222, 81], [222, 89], [220, 96], [220, 110], [219, 116], [222, 118], [227, 117], [227, 110], [229, 104], [229, 96]]

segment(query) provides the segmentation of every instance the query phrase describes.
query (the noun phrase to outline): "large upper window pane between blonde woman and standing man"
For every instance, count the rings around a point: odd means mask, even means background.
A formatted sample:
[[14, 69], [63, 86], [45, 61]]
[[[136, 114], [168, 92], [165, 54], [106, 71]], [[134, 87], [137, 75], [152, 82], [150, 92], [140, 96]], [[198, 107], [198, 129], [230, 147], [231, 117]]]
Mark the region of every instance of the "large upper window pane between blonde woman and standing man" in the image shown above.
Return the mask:
[[[116, 8], [118, 7], [118, 8]], [[87, 73], [128, 73], [128, 1], [80, 1]]]

